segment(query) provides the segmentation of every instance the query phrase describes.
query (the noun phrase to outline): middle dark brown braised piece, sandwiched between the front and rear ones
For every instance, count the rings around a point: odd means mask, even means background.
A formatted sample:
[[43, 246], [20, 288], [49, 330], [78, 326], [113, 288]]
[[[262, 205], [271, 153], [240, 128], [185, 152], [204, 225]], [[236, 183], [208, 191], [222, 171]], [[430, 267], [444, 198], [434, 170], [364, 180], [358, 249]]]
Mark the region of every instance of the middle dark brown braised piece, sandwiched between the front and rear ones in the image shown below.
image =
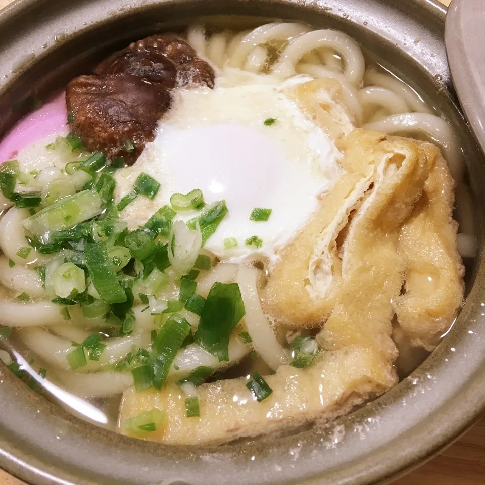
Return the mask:
[[175, 87], [177, 70], [175, 64], [154, 47], [115, 52], [99, 64], [94, 72], [104, 74], [133, 74], [167, 88]]

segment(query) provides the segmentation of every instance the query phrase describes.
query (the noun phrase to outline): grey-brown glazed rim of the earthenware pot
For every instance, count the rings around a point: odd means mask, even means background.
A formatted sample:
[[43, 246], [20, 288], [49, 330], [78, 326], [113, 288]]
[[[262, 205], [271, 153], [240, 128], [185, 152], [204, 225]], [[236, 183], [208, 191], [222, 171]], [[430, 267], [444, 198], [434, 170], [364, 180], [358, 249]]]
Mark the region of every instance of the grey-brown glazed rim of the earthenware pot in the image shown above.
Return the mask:
[[[434, 87], [448, 106], [445, 114], [451, 113], [450, 119], [459, 124], [467, 153], [475, 154], [474, 160], [467, 157], [472, 187], [474, 180], [482, 180], [482, 160], [450, 84], [443, 5], [435, 0], [408, 0], [399, 6], [392, 0], [320, 4], [311, 0], [17, 0], [0, 12], [0, 118], [16, 80], [33, 72], [38, 62], [29, 55], [40, 59], [42, 53], [48, 55], [81, 31], [94, 34], [105, 21], [119, 18], [121, 25], [129, 16], [154, 6], [170, 9], [166, 12], [187, 9], [188, 16], [214, 13], [217, 8], [220, 13], [269, 16], [274, 12], [273, 17], [314, 19], [311, 23], [317, 26], [326, 19], [335, 22], [335, 28], [355, 29], [364, 39], [368, 32], [388, 47], [396, 43], [396, 55], [410, 69], [436, 76]], [[54, 41], [60, 34], [63, 37]], [[413, 47], [413, 38], [420, 38], [421, 46]], [[46, 41], [50, 46], [44, 49]], [[370, 41], [363, 43], [370, 50], [374, 47]], [[19, 65], [22, 58], [29, 63]], [[428, 90], [430, 86], [428, 82]], [[477, 197], [481, 215], [485, 196]], [[131, 439], [73, 417], [33, 393], [2, 364], [0, 467], [33, 485], [218, 485], [236, 480], [239, 485], [388, 483], [457, 438], [485, 406], [485, 339], [479, 338], [485, 327], [481, 246], [474, 273], [457, 323], [410, 377], [349, 416], [286, 438], [198, 448]]]

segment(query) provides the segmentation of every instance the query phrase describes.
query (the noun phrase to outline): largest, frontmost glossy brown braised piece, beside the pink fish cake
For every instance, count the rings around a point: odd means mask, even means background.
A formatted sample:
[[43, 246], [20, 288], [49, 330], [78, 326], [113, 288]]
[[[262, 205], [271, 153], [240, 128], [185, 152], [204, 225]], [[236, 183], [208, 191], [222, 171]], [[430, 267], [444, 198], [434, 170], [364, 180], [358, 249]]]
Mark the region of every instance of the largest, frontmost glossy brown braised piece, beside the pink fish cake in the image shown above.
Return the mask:
[[109, 160], [124, 157], [132, 165], [152, 141], [160, 117], [170, 108], [171, 94], [140, 77], [79, 76], [66, 88], [73, 130], [91, 152]]

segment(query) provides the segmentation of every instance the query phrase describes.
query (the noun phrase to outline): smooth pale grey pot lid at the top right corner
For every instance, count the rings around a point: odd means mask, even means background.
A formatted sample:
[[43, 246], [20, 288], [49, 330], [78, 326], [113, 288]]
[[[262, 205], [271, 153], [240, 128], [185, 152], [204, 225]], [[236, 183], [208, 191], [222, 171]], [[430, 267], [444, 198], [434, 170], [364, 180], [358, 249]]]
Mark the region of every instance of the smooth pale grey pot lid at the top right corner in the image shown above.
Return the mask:
[[485, 152], [485, 0], [453, 0], [445, 42], [458, 98]]

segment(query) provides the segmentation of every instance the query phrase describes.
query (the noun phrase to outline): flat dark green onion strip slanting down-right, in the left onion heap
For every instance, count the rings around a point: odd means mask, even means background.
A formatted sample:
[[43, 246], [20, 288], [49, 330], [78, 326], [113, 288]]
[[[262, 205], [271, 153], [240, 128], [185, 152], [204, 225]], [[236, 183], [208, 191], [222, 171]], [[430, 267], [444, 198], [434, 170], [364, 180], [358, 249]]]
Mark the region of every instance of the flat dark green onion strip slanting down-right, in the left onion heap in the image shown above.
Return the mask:
[[106, 244], [103, 242], [86, 243], [84, 256], [92, 284], [102, 300], [110, 305], [126, 302], [126, 293], [118, 282], [115, 271], [113, 271]]

